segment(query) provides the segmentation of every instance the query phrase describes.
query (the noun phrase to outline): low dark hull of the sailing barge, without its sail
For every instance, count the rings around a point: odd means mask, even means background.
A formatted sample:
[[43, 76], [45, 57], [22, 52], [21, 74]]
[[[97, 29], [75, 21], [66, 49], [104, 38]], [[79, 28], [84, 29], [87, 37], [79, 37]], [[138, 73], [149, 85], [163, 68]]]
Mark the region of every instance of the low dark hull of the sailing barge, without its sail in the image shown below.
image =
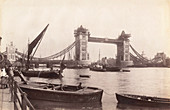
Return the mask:
[[[26, 77], [41, 77], [41, 78], [60, 78], [62, 75], [58, 71], [22, 71]], [[18, 71], [14, 71], [14, 76], [19, 76]]]

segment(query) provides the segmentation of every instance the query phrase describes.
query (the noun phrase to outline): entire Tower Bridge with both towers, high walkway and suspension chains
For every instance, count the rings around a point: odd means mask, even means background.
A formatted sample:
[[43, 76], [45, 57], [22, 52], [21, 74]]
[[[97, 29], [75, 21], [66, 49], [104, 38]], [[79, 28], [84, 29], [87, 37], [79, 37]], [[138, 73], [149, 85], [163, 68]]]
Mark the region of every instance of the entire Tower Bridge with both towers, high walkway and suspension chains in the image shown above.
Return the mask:
[[[116, 56], [116, 64], [117, 66], [129, 66], [133, 65], [133, 61], [141, 62], [142, 64], [147, 64], [150, 62], [146, 58], [144, 58], [142, 55], [140, 55], [131, 45], [129, 37], [131, 37], [130, 34], [126, 34], [124, 31], [122, 31], [121, 35], [118, 36], [117, 39], [111, 39], [111, 38], [99, 38], [99, 37], [93, 37], [90, 35], [90, 32], [88, 29], [84, 28], [83, 26], [80, 26], [76, 30], [74, 30], [74, 37], [75, 41], [69, 45], [67, 48], [63, 49], [60, 52], [57, 52], [53, 55], [44, 57], [44, 58], [37, 58], [33, 57], [32, 64], [39, 65], [39, 64], [58, 64], [60, 63], [60, 60], [57, 58], [61, 58], [62, 56], [65, 56], [67, 53], [70, 53], [70, 51], [75, 50], [74, 53], [74, 59], [72, 60], [66, 60], [65, 63], [67, 64], [83, 64], [88, 65], [90, 64], [89, 60], [89, 53], [87, 50], [88, 42], [93, 43], [108, 43], [108, 44], [114, 44], [117, 46], [117, 56]], [[129, 52], [130, 48], [134, 51], [134, 53], [137, 55], [133, 55]], [[112, 50], [112, 48], [110, 48]], [[110, 51], [108, 50], [108, 51]], [[19, 58], [25, 56], [27, 58], [26, 54], [22, 54], [21, 52], [16, 51], [16, 56]]]

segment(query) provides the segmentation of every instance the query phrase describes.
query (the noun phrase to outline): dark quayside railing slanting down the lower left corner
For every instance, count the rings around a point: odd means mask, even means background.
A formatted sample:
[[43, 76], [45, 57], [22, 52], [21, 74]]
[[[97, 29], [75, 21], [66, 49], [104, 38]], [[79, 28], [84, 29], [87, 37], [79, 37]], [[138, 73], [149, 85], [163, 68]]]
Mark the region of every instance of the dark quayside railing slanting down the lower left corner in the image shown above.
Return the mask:
[[11, 92], [11, 101], [14, 102], [14, 110], [35, 110], [33, 105], [27, 98], [27, 94], [21, 90], [17, 81], [14, 80], [13, 70], [9, 68], [7, 70], [9, 75], [9, 87]]

